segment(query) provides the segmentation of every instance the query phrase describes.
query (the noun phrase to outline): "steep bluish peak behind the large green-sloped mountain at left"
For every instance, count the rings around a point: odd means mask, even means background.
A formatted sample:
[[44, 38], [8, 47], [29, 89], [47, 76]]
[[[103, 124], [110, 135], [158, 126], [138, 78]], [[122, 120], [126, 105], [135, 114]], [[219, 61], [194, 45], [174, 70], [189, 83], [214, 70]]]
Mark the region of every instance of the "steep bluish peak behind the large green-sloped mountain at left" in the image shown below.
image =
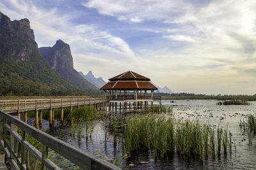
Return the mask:
[[38, 48], [41, 55], [49, 62], [52, 69], [60, 73], [62, 76], [72, 81], [80, 89], [93, 90], [95, 93], [101, 93], [95, 85], [85, 80], [75, 69], [73, 65], [73, 57], [71, 55], [70, 46], [60, 39], [52, 47]]

